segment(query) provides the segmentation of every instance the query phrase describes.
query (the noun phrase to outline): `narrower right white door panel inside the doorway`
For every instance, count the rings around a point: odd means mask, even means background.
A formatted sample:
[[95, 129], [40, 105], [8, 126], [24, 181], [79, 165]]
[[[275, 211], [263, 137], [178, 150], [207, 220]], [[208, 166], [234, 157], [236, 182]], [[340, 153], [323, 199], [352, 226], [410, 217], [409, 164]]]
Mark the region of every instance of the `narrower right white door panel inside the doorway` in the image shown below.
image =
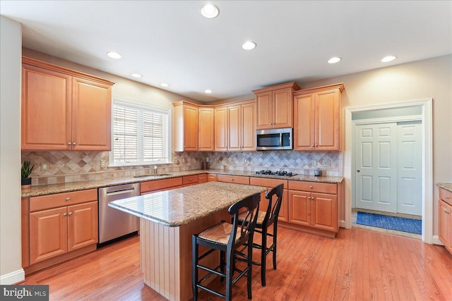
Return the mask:
[[421, 122], [397, 123], [397, 132], [397, 212], [422, 215]]

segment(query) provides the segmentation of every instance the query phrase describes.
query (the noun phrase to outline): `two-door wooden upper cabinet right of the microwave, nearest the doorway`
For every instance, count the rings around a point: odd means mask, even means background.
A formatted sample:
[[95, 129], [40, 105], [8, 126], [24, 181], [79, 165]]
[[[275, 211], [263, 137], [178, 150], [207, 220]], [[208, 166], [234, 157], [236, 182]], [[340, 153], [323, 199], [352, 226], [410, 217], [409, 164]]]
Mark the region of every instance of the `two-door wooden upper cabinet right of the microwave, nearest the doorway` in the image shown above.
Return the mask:
[[294, 93], [294, 150], [340, 150], [340, 93], [328, 85]]

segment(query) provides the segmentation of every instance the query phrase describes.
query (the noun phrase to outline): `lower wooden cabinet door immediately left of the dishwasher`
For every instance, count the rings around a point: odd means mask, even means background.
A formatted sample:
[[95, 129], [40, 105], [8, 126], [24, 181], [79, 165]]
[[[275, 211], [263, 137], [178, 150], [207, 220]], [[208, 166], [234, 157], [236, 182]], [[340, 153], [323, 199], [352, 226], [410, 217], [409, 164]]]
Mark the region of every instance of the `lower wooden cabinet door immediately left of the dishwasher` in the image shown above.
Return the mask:
[[68, 207], [69, 252], [97, 243], [97, 202]]

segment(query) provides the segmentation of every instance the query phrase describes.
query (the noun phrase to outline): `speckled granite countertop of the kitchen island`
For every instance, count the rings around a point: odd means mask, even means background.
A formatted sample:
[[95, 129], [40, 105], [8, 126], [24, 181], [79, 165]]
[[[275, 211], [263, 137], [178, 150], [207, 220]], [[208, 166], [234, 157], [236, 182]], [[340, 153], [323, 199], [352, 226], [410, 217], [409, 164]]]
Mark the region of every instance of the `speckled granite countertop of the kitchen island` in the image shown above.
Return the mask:
[[227, 208], [249, 195], [267, 191], [261, 186], [208, 182], [109, 202], [108, 206], [141, 219], [177, 227]]

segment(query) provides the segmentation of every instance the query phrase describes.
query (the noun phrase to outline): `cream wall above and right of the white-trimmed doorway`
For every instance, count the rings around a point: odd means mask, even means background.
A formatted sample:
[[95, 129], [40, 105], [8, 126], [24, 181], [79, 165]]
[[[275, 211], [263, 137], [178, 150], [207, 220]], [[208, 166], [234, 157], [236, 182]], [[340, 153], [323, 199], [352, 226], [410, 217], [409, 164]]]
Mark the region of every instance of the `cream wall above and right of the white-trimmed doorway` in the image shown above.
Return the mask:
[[[302, 89], [336, 82], [345, 86], [343, 112], [354, 106], [432, 98], [433, 183], [452, 183], [452, 55], [309, 82]], [[347, 135], [343, 133], [343, 142]], [[343, 147], [343, 151], [351, 149]], [[436, 185], [432, 190], [433, 234], [438, 235], [439, 190]]]

